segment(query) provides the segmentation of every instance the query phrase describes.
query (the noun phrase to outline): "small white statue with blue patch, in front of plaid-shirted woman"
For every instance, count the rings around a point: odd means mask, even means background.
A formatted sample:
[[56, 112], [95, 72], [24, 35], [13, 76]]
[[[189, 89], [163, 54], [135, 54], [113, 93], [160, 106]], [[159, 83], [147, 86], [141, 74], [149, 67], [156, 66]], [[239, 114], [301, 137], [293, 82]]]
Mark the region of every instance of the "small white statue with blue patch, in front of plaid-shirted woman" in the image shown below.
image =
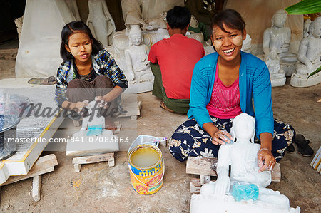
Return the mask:
[[96, 100], [87, 106], [89, 115], [83, 118], [81, 130], [73, 134], [67, 143], [66, 155], [98, 155], [119, 150], [112, 130], [105, 129], [105, 118], [99, 115]]

